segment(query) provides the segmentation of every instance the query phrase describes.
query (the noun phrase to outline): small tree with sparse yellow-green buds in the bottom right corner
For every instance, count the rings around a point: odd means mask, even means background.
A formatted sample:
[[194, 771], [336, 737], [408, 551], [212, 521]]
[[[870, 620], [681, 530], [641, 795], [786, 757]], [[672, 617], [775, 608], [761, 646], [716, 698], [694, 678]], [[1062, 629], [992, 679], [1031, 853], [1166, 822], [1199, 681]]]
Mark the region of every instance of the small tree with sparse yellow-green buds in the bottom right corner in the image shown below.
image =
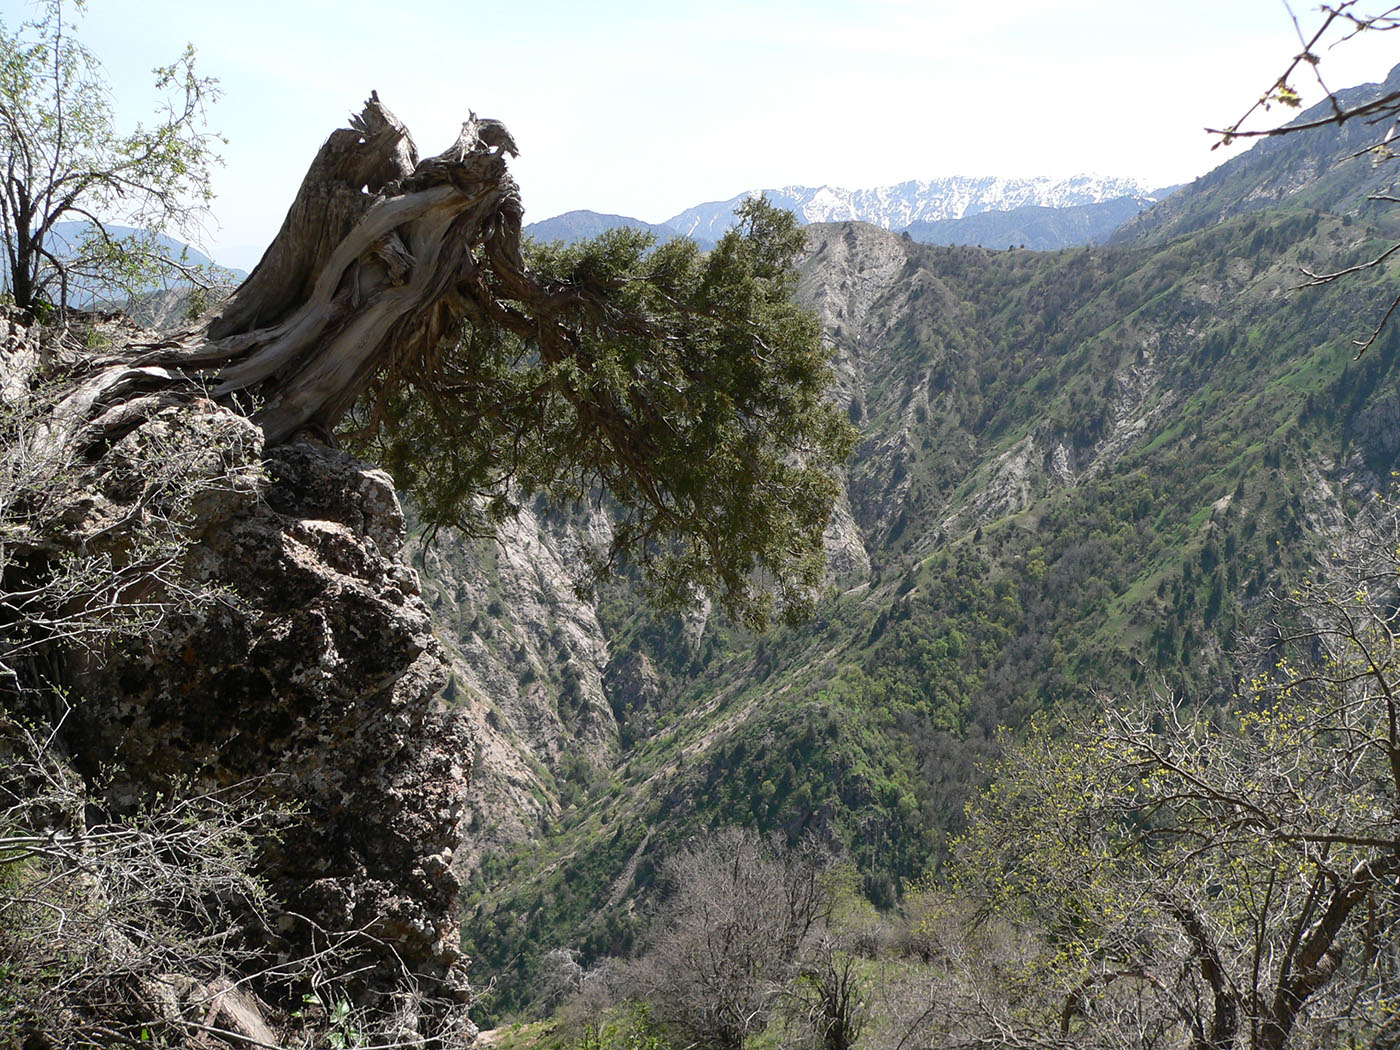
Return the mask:
[[1288, 601], [1238, 721], [1156, 699], [1008, 750], [963, 885], [1035, 948], [945, 1044], [1396, 1044], [1400, 557], [1368, 546]]

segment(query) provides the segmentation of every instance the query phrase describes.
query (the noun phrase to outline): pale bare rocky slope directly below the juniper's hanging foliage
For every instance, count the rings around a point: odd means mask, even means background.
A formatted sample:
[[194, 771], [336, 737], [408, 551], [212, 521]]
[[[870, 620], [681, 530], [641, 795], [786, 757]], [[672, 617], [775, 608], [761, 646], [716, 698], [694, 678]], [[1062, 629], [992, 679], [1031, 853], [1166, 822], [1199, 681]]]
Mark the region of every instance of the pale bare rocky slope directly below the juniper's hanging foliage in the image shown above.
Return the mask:
[[574, 589], [580, 543], [601, 542], [606, 528], [601, 515], [552, 518], [540, 503], [498, 540], [417, 550], [454, 672], [448, 697], [479, 727], [463, 871], [536, 840], [578, 784], [617, 757], [609, 638]]

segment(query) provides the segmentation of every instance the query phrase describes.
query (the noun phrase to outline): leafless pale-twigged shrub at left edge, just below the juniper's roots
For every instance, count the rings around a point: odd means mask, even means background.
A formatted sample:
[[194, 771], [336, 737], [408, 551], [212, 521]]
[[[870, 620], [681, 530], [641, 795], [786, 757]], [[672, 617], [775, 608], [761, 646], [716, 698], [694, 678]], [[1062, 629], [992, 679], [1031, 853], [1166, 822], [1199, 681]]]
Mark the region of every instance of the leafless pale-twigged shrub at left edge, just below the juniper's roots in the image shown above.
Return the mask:
[[36, 378], [38, 356], [0, 356], [0, 676], [11, 687], [35, 650], [98, 652], [227, 601], [183, 573], [186, 556], [202, 524], [262, 482], [256, 428], [190, 398], [87, 462], [55, 414], [57, 382]]

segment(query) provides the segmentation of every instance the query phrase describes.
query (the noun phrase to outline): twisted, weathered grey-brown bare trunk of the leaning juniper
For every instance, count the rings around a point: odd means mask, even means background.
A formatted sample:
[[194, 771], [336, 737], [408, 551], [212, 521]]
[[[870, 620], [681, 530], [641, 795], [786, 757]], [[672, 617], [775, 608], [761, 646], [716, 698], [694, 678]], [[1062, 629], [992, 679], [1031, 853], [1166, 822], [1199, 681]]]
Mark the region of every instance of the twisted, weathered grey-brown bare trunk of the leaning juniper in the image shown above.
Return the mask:
[[242, 407], [276, 445], [330, 431], [377, 372], [433, 353], [466, 318], [538, 337], [550, 291], [525, 273], [519, 192], [507, 147], [483, 143], [484, 127], [500, 126], [473, 115], [447, 151], [420, 161], [371, 95], [321, 147], [223, 311], [134, 357], [92, 363], [55, 438], [101, 445], [139, 424], [143, 405], [207, 396]]

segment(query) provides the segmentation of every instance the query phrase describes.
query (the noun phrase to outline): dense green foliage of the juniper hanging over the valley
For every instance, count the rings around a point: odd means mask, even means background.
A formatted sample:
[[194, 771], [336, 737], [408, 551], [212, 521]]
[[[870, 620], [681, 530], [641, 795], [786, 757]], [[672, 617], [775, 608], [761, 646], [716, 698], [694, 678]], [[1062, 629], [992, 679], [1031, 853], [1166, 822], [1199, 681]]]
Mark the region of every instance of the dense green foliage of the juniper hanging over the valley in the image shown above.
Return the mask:
[[703, 589], [756, 626], [801, 617], [854, 431], [823, 400], [827, 351], [791, 298], [802, 230], [763, 199], [738, 214], [708, 255], [630, 230], [531, 245], [540, 283], [568, 290], [542, 322], [567, 353], [469, 321], [386, 371], [356, 440], [430, 531], [489, 532], [536, 491], [606, 493], [620, 510], [592, 578], [626, 556], [664, 606]]

